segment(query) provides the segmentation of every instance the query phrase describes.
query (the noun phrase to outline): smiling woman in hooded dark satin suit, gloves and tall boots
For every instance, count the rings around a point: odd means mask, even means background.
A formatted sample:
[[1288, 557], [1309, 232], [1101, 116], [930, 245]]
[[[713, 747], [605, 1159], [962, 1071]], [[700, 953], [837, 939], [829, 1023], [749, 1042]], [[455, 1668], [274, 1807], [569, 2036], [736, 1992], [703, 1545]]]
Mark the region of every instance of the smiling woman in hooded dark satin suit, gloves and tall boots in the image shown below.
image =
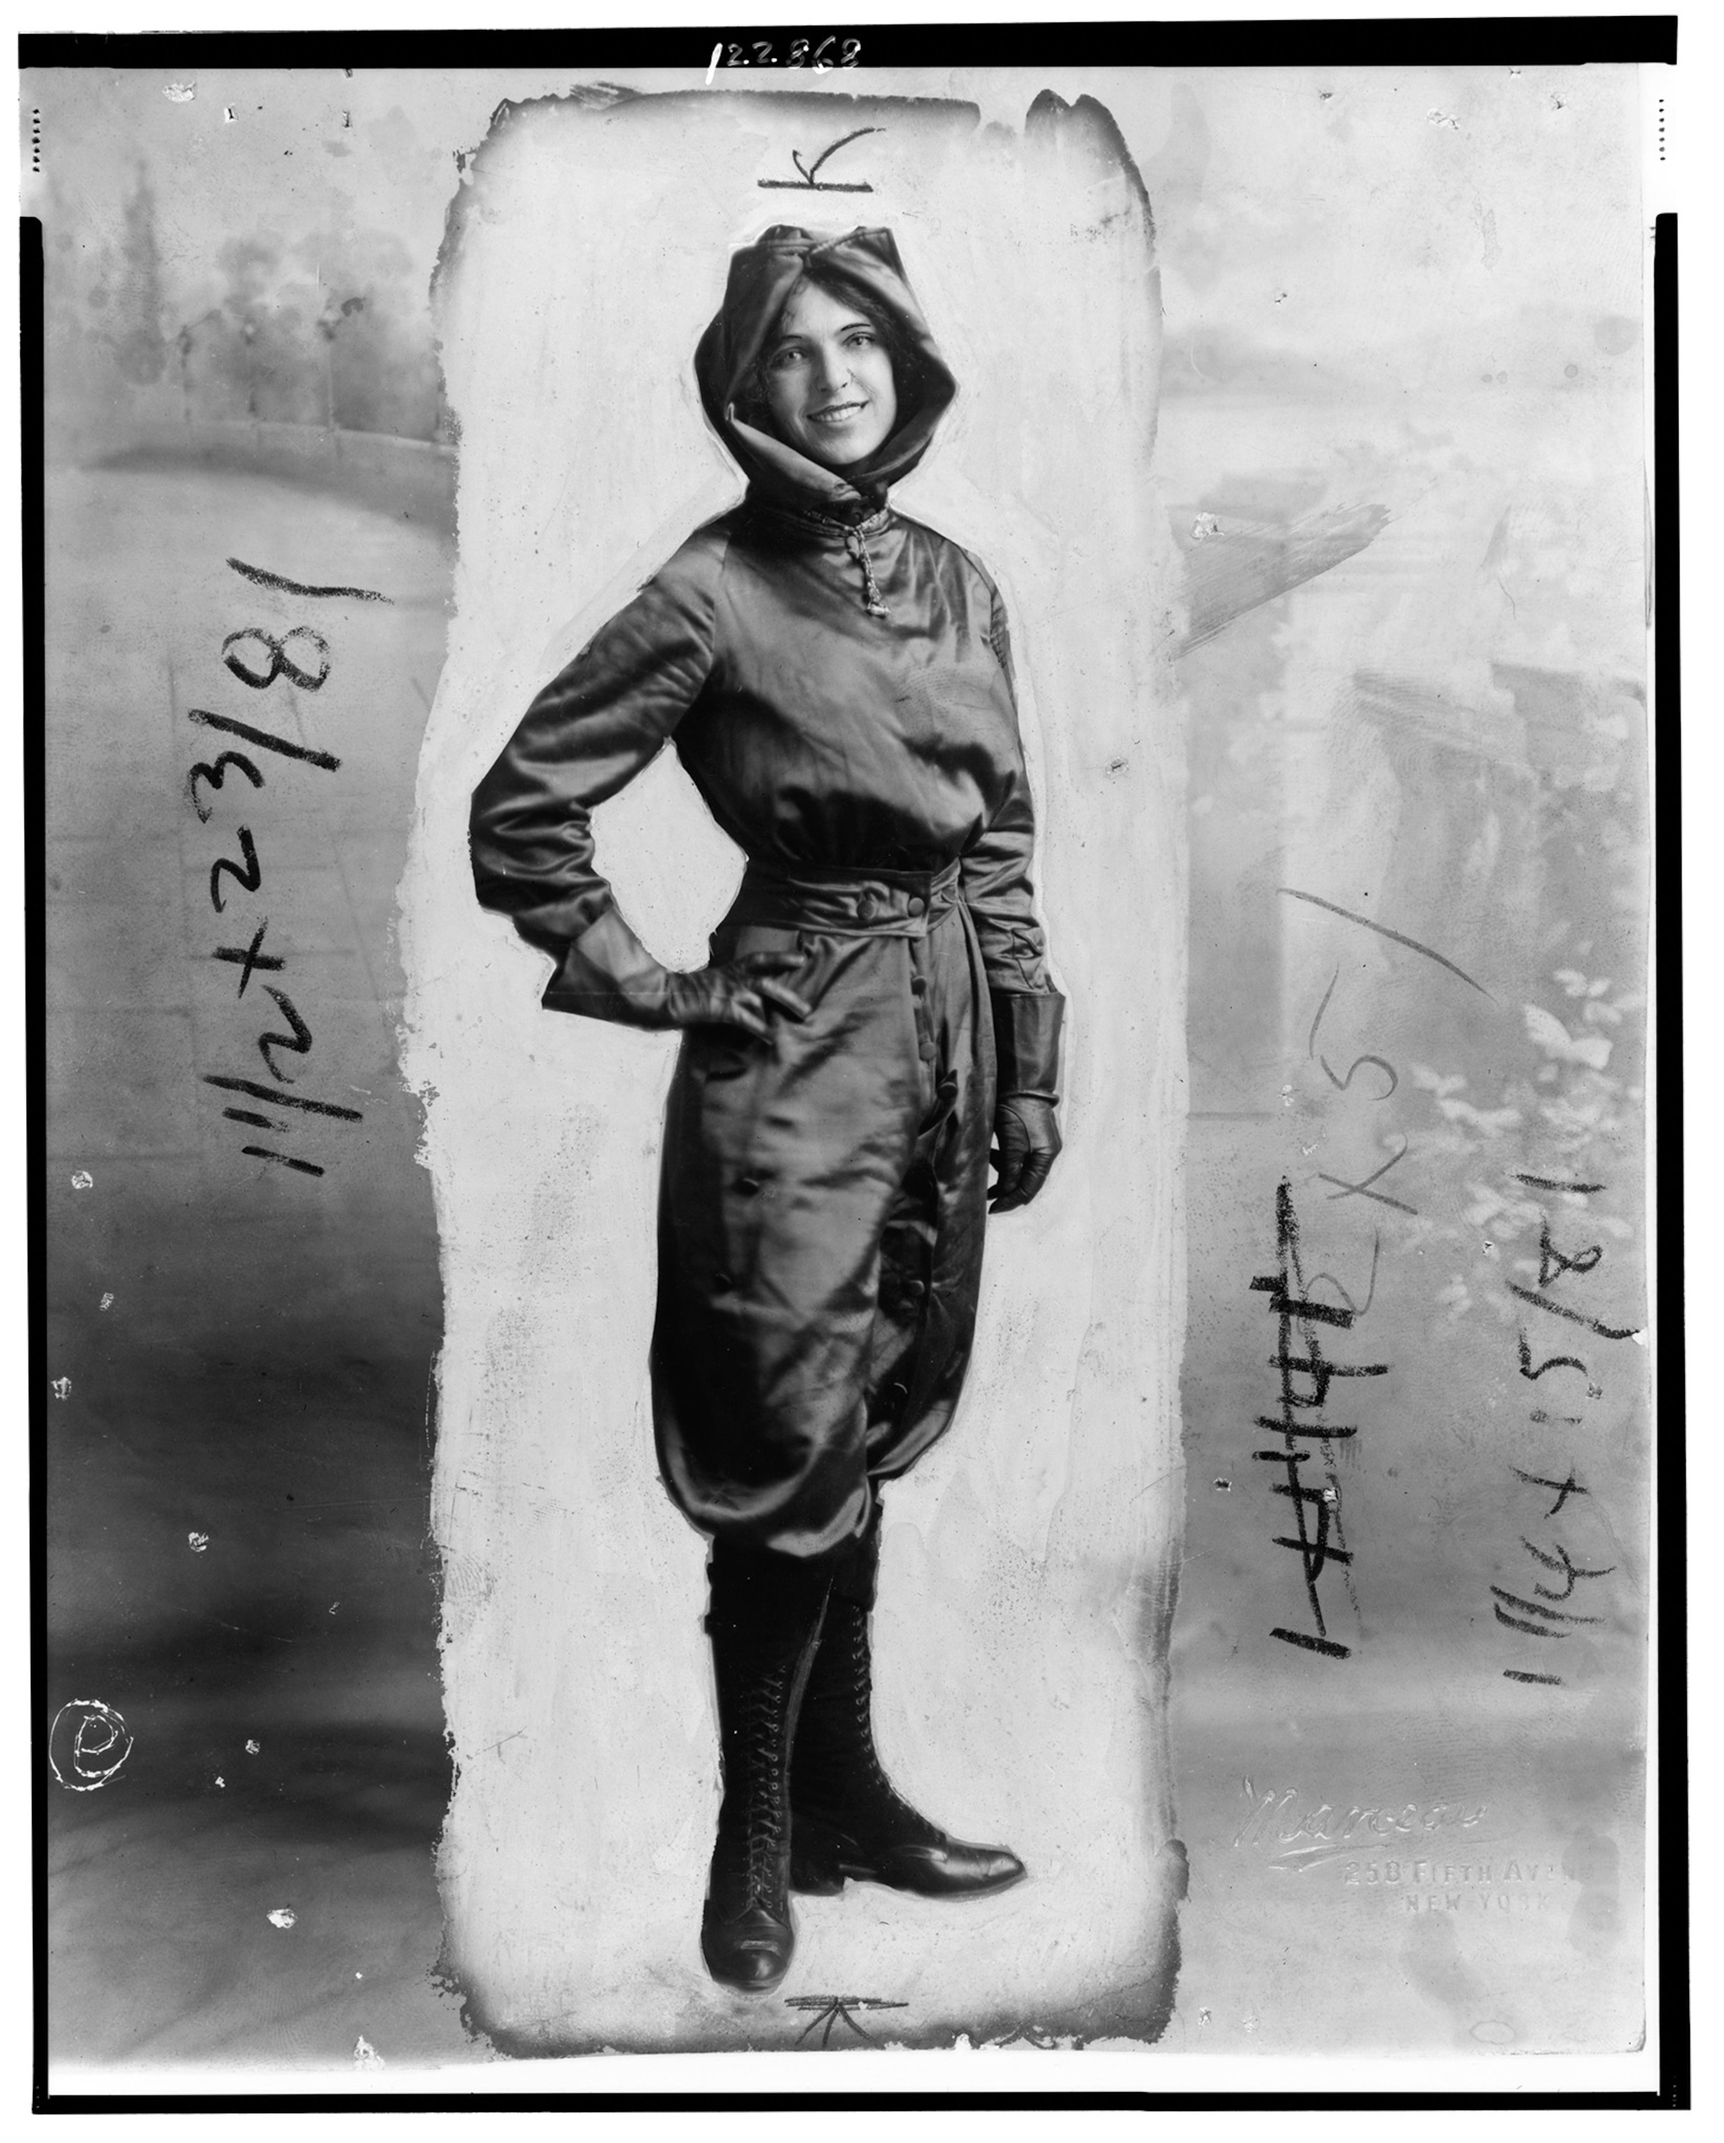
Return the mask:
[[[958, 1399], [986, 1215], [1059, 1153], [1064, 1001], [999, 591], [888, 506], [956, 392], [892, 234], [766, 231], [695, 371], [746, 497], [538, 694], [474, 795], [472, 859], [482, 904], [555, 958], [549, 1009], [684, 1031], [654, 1432], [712, 1543], [701, 1950], [763, 1993], [791, 1890], [1025, 1873], [886, 1779], [868, 1614], [881, 1483]], [[594, 806], [667, 741], [748, 859], [693, 973], [652, 958], [594, 868]]]

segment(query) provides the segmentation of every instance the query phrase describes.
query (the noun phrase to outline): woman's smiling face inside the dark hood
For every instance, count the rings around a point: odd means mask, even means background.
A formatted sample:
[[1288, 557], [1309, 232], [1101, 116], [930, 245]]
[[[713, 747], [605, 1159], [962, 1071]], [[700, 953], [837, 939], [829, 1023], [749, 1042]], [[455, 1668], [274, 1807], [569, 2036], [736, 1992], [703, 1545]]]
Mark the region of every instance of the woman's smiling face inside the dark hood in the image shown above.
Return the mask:
[[898, 422], [879, 328], [819, 283], [798, 283], [761, 360], [778, 437], [828, 469], [866, 461]]

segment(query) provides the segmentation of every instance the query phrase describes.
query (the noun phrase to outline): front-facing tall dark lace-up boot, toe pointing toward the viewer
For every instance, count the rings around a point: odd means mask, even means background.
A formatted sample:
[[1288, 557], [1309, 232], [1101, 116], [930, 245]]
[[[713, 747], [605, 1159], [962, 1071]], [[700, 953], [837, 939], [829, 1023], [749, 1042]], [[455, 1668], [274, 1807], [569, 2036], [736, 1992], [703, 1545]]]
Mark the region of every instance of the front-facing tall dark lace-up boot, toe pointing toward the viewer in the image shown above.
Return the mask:
[[789, 1755], [819, 1642], [828, 1567], [714, 1543], [708, 1635], [723, 1798], [701, 1914], [705, 1969], [770, 1993], [789, 1969]]

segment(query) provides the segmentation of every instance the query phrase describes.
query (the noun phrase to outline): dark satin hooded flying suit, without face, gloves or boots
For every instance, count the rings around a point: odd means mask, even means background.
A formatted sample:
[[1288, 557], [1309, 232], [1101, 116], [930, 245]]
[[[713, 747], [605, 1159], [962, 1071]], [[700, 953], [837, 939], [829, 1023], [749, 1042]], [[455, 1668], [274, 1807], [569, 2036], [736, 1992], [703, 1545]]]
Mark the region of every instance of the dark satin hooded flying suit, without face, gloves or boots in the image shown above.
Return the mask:
[[[845, 476], [738, 414], [811, 257], [913, 356], [898, 429]], [[1053, 1093], [1061, 1001], [999, 591], [886, 504], [954, 392], [890, 234], [770, 231], [740, 253], [697, 375], [748, 495], [538, 694], [476, 791], [472, 857], [480, 900], [558, 958], [547, 1007], [598, 1018], [628, 1009], [592, 810], [673, 744], [748, 857], [712, 958], [796, 954], [783, 979], [813, 1014], [774, 1011], [770, 1044], [682, 1037], [654, 1427], [701, 1530], [823, 1556], [952, 1419], [995, 1095]]]

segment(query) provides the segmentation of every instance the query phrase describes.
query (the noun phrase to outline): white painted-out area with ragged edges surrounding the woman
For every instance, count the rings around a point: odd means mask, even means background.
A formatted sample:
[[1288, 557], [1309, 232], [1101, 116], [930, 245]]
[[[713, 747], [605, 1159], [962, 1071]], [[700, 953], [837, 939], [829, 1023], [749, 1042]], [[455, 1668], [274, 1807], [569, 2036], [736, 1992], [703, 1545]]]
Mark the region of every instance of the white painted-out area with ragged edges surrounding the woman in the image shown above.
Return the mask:
[[[1036, 81], [1025, 77], [1025, 107]], [[856, 126], [823, 178], [763, 191]], [[714, 1987], [703, 1543], [654, 1468], [648, 1335], [673, 1037], [538, 1009], [549, 962], [474, 902], [467, 797], [527, 701], [740, 478], [693, 349], [768, 223], [886, 223], [961, 394], [903, 510], [1012, 615], [1070, 999], [1066, 1155], [991, 1228], [948, 1440], [886, 1502], [879, 1738], [931, 1815], [1031, 1879], [961, 1907], [798, 1903], [781, 1995]], [[1184, 1322], [1177, 568], [1151, 478], [1149, 219], [1098, 107], [712, 94], [504, 107], [444, 251], [457, 617], [403, 881], [407, 1072], [446, 1282], [435, 1532], [459, 1779], [448, 1963], [519, 2051], [787, 2044], [785, 1997], [905, 2002], [918, 2042], [1147, 2036], [1171, 1999], [1164, 1622]], [[652, 949], [699, 964], [740, 857], [667, 752], [598, 814]]]

